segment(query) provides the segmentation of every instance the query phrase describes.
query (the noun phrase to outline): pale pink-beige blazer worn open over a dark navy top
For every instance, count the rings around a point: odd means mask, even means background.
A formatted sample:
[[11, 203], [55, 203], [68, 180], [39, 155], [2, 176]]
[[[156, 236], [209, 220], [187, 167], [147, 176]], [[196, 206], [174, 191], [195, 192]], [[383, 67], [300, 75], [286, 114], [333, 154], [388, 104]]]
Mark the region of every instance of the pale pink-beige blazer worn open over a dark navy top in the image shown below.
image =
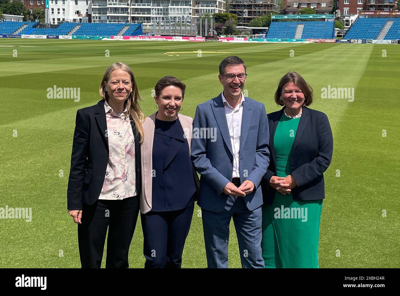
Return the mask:
[[[146, 214], [152, 208], [152, 169], [153, 169], [153, 140], [154, 128], [156, 122], [156, 113], [146, 117], [143, 123], [144, 141], [140, 147], [142, 154], [142, 189], [140, 192], [140, 212]], [[192, 144], [192, 125], [193, 118], [190, 116], [178, 114], [178, 120], [184, 131], [185, 137], [188, 140], [189, 156], [190, 146]], [[199, 190], [199, 178], [193, 167], [194, 180], [196, 183], [196, 194]], [[196, 198], [197, 199], [197, 198]]]

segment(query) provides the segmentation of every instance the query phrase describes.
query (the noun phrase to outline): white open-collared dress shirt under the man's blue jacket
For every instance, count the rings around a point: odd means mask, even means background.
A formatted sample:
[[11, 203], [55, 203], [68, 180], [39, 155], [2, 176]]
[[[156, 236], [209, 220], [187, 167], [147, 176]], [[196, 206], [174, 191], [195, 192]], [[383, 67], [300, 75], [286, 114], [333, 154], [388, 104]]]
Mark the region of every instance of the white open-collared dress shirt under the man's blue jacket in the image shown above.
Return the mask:
[[230, 104], [224, 97], [224, 92], [221, 93], [221, 96], [222, 96], [222, 102], [224, 102], [226, 122], [228, 123], [230, 144], [232, 146], [232, 153], [233, 153], [232, 178], [240, 178], [239, 147], [240, 147], [240, 130], [242, 128], [244, 95], [242, 93], [242, 99], [240, 100], [236, 108], [230, 106]]

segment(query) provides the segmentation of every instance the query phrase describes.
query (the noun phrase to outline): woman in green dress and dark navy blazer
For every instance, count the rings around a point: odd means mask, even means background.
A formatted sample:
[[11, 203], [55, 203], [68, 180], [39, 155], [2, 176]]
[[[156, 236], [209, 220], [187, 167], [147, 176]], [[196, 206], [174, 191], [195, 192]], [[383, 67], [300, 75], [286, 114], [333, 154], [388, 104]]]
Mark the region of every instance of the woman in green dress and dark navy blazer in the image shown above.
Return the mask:
[[266, 268], [318, 268], [324, 175], [333, 151], [326, 114], [307, 108], [312, 88], [296, 72], [275, 93], [268, 114], [270, 165], [262, 188], [262, 256]]

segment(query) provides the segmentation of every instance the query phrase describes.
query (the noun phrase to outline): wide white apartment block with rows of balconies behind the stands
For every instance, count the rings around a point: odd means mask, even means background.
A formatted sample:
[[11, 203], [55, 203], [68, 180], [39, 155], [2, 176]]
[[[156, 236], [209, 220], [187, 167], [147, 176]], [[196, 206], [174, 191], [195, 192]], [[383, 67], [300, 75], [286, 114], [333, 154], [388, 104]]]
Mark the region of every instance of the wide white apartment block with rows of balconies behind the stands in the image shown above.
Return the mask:
[[[60, 0], [58, 0], [60, 1]], [[143, 22], [152, 16], [179, 16], [182, 23], [204, 14], [225, 12], [222, 0], [92, 0], [92, 22]]]

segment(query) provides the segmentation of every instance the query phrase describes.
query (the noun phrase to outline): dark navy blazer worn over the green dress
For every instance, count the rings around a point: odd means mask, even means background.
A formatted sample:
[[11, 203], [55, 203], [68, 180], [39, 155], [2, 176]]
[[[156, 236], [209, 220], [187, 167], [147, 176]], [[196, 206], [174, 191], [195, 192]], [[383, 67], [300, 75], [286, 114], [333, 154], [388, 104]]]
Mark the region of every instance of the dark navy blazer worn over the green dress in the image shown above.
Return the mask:
[[[275, 130], [284, 108], [268, 114], [270, 126], [270, 165], [264, 175], [262, 192], [264, 203], [270, 204], [275, 189], [269, 186], [276, 174], [274, 149]], [[297, 186], [292, 189], [295, 200], [320, 200], [325, 198], [324, 172], [332, 160], [333, 137], [326, 114], [303, 107], [290, 159], [290, 174]]]

